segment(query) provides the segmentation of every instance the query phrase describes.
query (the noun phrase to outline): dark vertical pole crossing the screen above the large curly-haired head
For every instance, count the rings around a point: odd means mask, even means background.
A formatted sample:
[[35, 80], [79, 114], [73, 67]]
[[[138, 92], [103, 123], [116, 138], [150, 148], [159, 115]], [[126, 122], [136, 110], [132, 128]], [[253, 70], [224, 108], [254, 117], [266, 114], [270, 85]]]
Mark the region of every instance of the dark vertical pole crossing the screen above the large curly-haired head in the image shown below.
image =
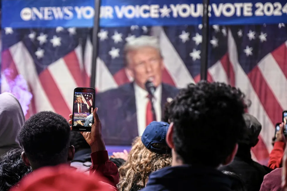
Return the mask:
[[209, 16], [208, 6], [209, 0], [202, 0], [203, 17], [202, 17], [202, 44], [201, 44], [201, 67], [200, 79], [207, 79], [207, 63], [208, 63], [208, 41], [209, 41]]

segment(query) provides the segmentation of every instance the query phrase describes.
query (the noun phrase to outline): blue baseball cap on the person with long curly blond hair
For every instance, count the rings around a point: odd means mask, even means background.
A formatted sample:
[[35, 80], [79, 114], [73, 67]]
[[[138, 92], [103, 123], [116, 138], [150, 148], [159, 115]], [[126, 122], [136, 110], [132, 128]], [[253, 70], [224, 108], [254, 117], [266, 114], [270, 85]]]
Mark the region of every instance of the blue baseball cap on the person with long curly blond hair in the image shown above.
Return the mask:
[[[156, 153], [169, 153], [171, 149], [168, 147], [165, 141], [166, 134], [168, 132], [169, 124], [165, 122], [151, 122], [143, 132], [141, 136], [141, 142], [150, 151]], [[156, 147], [154, 143], [160, 144], [160, 147]]]

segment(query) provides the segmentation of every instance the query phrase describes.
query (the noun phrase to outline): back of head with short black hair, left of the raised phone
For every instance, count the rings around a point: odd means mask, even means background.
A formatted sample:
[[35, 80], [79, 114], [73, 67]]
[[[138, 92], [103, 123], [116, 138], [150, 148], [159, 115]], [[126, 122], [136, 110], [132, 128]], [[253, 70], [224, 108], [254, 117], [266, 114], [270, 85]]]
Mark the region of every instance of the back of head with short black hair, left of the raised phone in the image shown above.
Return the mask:
[[30, 161], [38, 166], [54, 166], [67, 161], [70, 131], [64, 117], [41, 111], [25, 121], [19, 140]]

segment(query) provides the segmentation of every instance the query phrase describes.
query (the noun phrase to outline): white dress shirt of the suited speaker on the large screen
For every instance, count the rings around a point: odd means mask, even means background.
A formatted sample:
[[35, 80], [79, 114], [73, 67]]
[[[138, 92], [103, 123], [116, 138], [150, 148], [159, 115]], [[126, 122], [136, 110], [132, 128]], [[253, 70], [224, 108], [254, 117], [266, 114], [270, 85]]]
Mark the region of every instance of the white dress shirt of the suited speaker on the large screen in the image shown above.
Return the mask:
[[[148, 92], [134, 83], [134, 94], [136, 97], [136, 118], [138, 123], [139, 136], [146, 129], [146, 106], [148, 104]], [[153, 107], [156, 112], [156, 121], [161, 121], [161, 95], [162, 85], [159, 85], [154, 92]]]

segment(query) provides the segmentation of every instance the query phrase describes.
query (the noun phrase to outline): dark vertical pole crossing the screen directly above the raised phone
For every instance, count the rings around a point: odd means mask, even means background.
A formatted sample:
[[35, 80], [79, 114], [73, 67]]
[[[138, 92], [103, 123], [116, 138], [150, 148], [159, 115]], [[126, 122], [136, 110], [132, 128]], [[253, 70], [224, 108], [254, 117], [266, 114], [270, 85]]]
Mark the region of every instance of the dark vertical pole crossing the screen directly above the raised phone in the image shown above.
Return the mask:
[[94, 16], [94, 27], [93, 27], [93, 54], [92, 54], [92, 68], [91, 68], [91, 78], [90, 78], [90, 87], [95, 88], [95, 79], [96, 79], [96, 68], [97, 68], [97, 58], [99, 55], [99, 42], [98, 42], [98, 33], [100, 30], [100, 6], [101, 0], [95, 0], [95, 16]]

